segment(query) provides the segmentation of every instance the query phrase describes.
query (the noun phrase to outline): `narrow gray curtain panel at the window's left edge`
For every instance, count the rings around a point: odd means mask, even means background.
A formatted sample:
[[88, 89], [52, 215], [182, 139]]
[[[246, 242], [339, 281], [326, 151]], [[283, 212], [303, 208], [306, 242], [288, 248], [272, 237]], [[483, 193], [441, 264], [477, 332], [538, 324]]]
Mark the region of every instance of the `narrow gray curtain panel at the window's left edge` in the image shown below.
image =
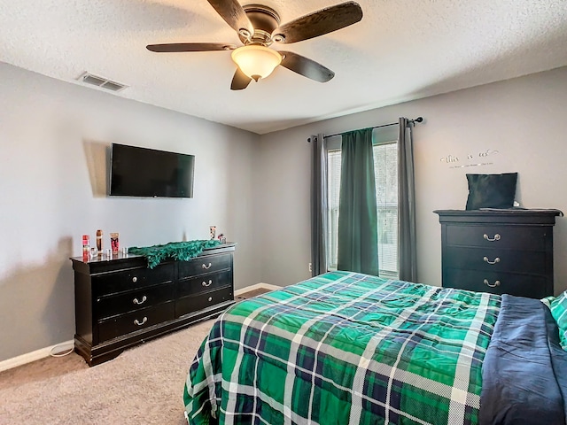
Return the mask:
[[327, 272], [327, 150], [322, 135], [312, 135], [311, 274]]

